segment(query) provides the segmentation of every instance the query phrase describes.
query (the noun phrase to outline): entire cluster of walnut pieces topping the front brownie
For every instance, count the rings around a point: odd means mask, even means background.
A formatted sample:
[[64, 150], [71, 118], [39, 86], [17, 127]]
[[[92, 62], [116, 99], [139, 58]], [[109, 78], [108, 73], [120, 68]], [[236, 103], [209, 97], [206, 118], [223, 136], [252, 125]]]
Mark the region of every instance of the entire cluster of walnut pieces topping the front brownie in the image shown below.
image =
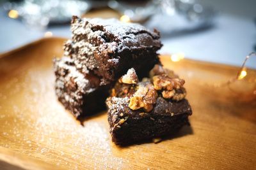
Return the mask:
[[[116, 83], [116, 89], [118, 90], [112, 90], [112, 96], [128, 97], [130, 98], [128, 106], [131, 110], [143, 108], [146, 113], [153, 110], [159, 93], [162, 93], [165, 99], [175, 101], [184, 99], [186, 96], [186, 90], [183, 87], [185, 81], [177, 78], [177, 75], [172, 71], [163, 69], [162, 66], [158, 65], [151, 71], [151, 75], [153, 75], [152, 78], [143, 78], [138, 83], [139, 80], [135, 70], [133, 68], [129, 69], [127, 74], [118, 80], [119, 83]], [[142, 112], [139, 115], [142, 117], [146, 113]], [[119, 116], [123, 117], [124, 114], [120, 113]], [[154, 120], [154, 118], [151, 119]], [[120, 123], [123, 122], [122, 119], [120, 121]]]

